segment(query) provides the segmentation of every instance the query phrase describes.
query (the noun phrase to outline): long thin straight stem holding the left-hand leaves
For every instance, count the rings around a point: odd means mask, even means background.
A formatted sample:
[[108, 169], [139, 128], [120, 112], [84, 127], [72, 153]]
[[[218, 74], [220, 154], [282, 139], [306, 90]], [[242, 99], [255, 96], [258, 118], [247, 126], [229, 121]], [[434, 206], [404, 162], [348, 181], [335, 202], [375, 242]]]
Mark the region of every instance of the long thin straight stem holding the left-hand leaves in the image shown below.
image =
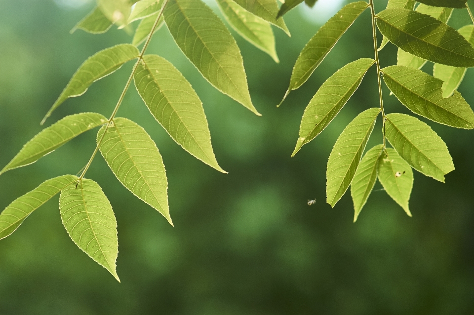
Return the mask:
[[[158, 2], [159, 2], [159, 0], [158, 0]], [[150, 34], [148, 34], [147, 40], [145, 41], [145, 44], [143, 45], [142, 51], [140, 52], [140, 55], [138, 55], [138, 60], [137, 60], [137, 62], [135, 63], [135, 65], [133, 66], [132, 73], [130, 74], [130, 77], [128, 77], [127, 83], [125, 83], [125, 87], [123, 88], [123, 91], [122, 91], [122, 93], [120, 94], [120, 97], [118, 98], [117, 105], [115, 106], [114, 111], [112, 112], [112, 115], [110, 116], [109, 120], [107, 120], [107, 125], [106, 125], [106, 127], [105, 127], [104, 133], [102, 134], [102, 137], [100, 138], [100, 140], [97, 142], [97, 146], [95, 147], [95, 150], [94, 150], [94, 152], [92, 153], [92, 156], [89, 158], [89, 161], [88, 161], [87, 164], [84, 166], [83, 171], [82, 171], [82, 173], [80, 174], [80, 177], [79, 177], [79, 179], [78, 179], [78, 184], [79, 184], [79, 182], [82, 182], [82, 178], [84, 178], [84, 175], [85, 175], [85, 173], [87, 172], [87, 170], [89, 169], [90, 164], [91, 164], [92, 161], [94, 160], [95, 155], [97, 154], [97, 151], [99, 151], [99, 146], [100, 146], [100, 144], [102, 143], [102, 140], [104, 140], [104, 136], [105, 136], [105, 134], [106, 134], [106, 132], [107, 132], [107, 129], [109, 129], [109, 126], [110, 126], [111, 123], [113, 122], [113, 120], [114, 120], [114, 118], [115, 118], [115, 115], [117, 114], [118, 108], [120, 107], [120, 104], [122, 103], [123, 98], [125, 97], [125, 94], [127, 93], [128, 87], [130, 86], [130, 83], [132, 82], [133, 76], [135, 75], [135, 72], [136, 72], [136, 70], [137, 70], [137, 68], [138, 68], [138, 64], [140, 63], [140, 61], [143, 60], [143, 55], [145, 54], [145, 51], [147, 50], [148, 45], [150, 44], [150, 41], [151, 41], [152, 36], [153, 36], [153, 33], [155, 32], [155, 29], [156, 29], [157, 26], [158, 26], [158, 21], [159, 21], [161, 15], [163, 14], [164, 7], [166, 6], [167, 3], [168, 3], [168, 0], [164, 0], [163, 5], [161, 6], [161, 9], [160, 9], [160, 11], [159, 11], [159, 13], [158, 13], [158, 17], [157, 17], [157, 19], [156, 19], [156, 21], [155, 21], [155, 24], [153, 24], [152, 30], [150, 31]], [[76, 184], [76, 188], [77, 188], [77, 187], [78, 187], [78, 185]]]

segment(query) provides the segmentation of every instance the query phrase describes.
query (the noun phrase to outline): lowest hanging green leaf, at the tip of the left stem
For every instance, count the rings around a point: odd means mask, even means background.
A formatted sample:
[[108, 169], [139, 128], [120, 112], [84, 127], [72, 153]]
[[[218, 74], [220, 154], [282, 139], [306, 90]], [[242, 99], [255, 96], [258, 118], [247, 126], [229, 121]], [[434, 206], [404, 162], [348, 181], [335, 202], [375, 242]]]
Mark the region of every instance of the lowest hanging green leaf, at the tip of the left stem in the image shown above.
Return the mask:
[[61, 190], [61, 220], [71, 239], [90, 258], [107, 269], [118, 282], [117, 220], [99, 184], [83, 178]]

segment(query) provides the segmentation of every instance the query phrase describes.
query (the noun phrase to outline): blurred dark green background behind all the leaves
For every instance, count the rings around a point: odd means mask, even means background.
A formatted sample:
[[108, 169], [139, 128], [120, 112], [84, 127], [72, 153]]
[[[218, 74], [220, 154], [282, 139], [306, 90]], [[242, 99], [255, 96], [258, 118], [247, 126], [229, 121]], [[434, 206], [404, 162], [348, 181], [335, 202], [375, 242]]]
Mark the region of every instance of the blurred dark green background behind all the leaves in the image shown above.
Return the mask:
[[[378, 11], [386, 5], [375, 2]], [[280, 64], [232, 31], [260, 118], [202, 79], [162, 28], [148, 52], [173, 62], [196, 89], [216, 157], [229, 174], [182, 150], [130, 88], [118, 116], [138, 122], [156, 141], [175, 227], [123, 188], [99, 155], [87, 176], [101, 185], [117, 216], [121, 283], [69, 238], [56, 196], [0, 241], [0, 314], [474, 314], [473, 131], [429, 122], [456, 165], [446, 184], [415, 172], [413, 218], [377, 184], [354, 224], [349, 193], [334, 209], [326, 204], [325, 170], [346, 124], [378, 106], [372, 67], [339, 116], [290, 158], [317, 87], [346, 63], [373, 56], [367, 10], [311, 79], [276, 109], [300, 50], [343, 4], [320, 0], [313, 10], [288, 13], [292, 37], [274, 29]], [[83, 60], [131, 41], [116, 29], [70, 35], [92, 7], [87, 0], [0, 0], [0, 166], [41, 130], [41, 118]], [[469, 22], [456, 10], [450, 24]], [[395, 64], [395, 46], [387, 45], [381, 60], [382, 66]], [[424, 70], [431, 73], [432, 66]], [[85, 111], [108, 117], [131, 67], [68, 100], [48, 123]], [[470, 70], [460, 91], [474, 104], [473, 82]], [[384, 96], [387, 112], [408, 113], [386, 87]], [[381, 140], [377, 125], [369, 146]], [[76, 174], [94, 147], [91, 131], [5, 173], [0, 208], [48, 178]], [[316, 204], [308, 206], [313, 198]]]

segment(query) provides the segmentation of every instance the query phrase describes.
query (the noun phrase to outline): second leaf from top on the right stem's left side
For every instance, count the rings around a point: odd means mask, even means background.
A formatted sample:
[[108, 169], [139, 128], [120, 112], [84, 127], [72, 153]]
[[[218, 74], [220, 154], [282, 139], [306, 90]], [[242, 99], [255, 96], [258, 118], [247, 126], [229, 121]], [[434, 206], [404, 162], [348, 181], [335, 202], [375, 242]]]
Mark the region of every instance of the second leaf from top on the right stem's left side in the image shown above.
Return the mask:
[[300, 124], [300, 137], [292, 157], [336, 117], [374, 63], [375, 60], [370, 58], [353, 61], [322, 83], [305, 109]]

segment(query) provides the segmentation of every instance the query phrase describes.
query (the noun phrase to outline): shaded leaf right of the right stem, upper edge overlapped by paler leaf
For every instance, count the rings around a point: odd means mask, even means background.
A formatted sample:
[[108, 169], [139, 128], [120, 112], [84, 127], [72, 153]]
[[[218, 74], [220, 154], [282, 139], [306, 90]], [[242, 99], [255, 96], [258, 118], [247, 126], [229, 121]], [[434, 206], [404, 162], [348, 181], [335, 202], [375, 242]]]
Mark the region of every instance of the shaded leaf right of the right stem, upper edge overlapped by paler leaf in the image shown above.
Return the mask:
[[382, 72], [390, 90], [413, 113], [451, 127], [474, 128], [474, 113], [469, 104], [457, 91], [443, 98], [440, 79], [402, 66], [390, 66]]

